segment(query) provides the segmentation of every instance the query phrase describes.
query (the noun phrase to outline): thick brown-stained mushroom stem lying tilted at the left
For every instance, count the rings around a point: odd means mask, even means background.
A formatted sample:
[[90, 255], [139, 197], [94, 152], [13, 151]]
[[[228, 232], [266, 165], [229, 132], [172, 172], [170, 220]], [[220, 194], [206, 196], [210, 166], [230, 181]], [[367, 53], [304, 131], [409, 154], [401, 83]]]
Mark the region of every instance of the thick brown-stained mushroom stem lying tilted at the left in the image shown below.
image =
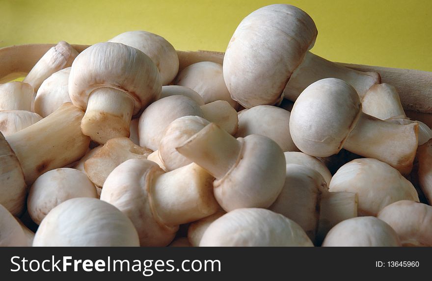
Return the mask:
[[43, 173], [79, 160], [90, 138], [81, 133], [84, 112], [64, 103], [41, 121], [6, 137], [24, 172], [27, 185]]

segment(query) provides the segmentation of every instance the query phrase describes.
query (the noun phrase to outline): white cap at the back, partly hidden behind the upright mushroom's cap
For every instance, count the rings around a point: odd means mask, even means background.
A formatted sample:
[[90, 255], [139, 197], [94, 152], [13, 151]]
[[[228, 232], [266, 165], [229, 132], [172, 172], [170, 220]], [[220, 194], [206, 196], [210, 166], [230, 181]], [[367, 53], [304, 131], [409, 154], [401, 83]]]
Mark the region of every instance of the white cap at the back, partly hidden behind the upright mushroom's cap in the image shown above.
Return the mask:
[[162, 36], [147, 31], [127, 31], [108, 42], [122, 43], [148, 55], [161, 73], [162, 85], [169, 84], [179, 72], [177, 51]]

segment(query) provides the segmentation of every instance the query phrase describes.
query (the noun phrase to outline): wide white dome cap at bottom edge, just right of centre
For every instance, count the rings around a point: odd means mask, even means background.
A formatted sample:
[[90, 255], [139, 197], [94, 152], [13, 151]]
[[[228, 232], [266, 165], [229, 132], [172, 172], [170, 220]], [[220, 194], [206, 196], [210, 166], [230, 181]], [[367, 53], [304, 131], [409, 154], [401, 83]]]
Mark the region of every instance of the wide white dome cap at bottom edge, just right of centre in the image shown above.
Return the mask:
[[294, 221], [267, 209], [241, 208], [214, 221], [204, 232], [200, 247], [289, 247], [313, 244]]

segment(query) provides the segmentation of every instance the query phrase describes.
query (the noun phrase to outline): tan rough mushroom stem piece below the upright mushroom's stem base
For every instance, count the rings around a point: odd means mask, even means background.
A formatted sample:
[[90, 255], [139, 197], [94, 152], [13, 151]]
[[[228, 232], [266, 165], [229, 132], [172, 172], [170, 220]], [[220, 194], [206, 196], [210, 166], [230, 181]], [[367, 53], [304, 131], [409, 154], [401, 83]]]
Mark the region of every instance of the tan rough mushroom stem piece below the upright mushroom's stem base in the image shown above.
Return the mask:
[[150, 153], [151, 150], [135, 145], [127, 137], [112, 138], [84, 162], [85, 173], [96, 186], [102, 187], [115, 167], [128, 159], [147, 159]]

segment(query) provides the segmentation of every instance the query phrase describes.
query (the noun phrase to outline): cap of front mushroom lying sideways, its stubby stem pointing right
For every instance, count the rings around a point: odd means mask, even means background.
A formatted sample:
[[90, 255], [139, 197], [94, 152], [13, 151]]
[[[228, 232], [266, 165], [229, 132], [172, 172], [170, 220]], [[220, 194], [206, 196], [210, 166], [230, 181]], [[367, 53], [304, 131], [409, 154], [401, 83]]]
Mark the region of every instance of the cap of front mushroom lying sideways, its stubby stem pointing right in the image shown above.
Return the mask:
[[102, 188], [101, 200], [116, 206], [131, 219], [141, 246], [166, 246], [178, 230], [178, 226], [165, 226], [155, 219], [150, 185], [163, 173], [150, 160], [130, 159], [109, 174]]

